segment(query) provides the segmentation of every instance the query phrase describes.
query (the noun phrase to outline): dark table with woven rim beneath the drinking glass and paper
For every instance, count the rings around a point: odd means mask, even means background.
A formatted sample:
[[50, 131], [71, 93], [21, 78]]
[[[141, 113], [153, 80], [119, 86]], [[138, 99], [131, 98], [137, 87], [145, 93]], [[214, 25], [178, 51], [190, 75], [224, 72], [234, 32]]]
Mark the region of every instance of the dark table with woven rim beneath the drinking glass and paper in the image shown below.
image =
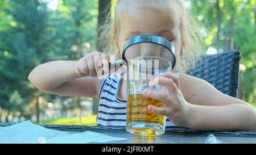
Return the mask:
[[[11, 124], [2, 123], [5, 127]], [[123, 137], [126, 140], [109, 141], [108, 143], [117, 144], [201, 144], [207, 140], [210, 134], [217, 137], [224, 143], [253, 143], [256, 144], [256, 132], [203, 132], [181, 127], [168, 127], [166, 132], [160, 136], [138, 136], [126, 132], [125, 127], [104, 127], [104, 126], [82, 126], [82, 125], [45, 125], [39, 124], [49, 129], [57, 129], [68, 133], [79, 133], [84, 131], [93, 131], [113, 137]]]

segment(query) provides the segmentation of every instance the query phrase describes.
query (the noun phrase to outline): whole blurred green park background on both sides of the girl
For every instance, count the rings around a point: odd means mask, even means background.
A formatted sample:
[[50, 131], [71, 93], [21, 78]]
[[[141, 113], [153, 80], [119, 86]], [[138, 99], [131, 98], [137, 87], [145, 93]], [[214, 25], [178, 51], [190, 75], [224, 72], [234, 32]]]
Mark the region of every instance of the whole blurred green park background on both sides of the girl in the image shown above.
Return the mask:
[[[131, 0], [132, 1], [132, 0]], [[97, 100], [43, 93], [35, 66], [79, 60], [97, 48], [104, 8], [116, 0], [0, 0], [0, 123], [96, 125]], [[207, 51], [242, 53], [239, 98], [256, 107], [256, 0], [184, 0], [203, 24]], [[110, 4], [109, 6], [107, 6]]]

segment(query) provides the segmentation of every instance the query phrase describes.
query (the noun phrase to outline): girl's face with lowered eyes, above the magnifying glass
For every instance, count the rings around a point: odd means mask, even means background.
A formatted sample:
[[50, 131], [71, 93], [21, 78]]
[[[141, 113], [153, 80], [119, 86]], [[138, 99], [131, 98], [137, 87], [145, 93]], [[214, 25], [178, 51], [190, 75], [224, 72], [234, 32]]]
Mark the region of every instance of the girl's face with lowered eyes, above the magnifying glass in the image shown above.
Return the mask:
[[175, 56], [182, 55], [181, 33], [178, 18], [170, 18], [158, 9], [148, 7], [129, 9], [120, 17], [120, 27], [115, 47], [122, 55], [123, 45], [137, 35], [156, 35], [169, 40], [175, 47]]

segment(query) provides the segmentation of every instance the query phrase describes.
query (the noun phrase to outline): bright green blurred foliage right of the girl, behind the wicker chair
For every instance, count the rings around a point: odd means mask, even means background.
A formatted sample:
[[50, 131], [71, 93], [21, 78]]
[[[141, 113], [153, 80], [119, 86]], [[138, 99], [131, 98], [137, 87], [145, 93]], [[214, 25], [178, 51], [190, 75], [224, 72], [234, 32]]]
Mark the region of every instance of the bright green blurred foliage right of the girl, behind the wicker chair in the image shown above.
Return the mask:
[[[212, 1], [211, 1], [212, 2]], [[205, 44], [242, 53], [241, 63], [246, 66], [243, 73], [243, 95], [247, 102], [256, 105], [256, 1], [220, 0], [193, 1], [193, 10], [208, 28]]]

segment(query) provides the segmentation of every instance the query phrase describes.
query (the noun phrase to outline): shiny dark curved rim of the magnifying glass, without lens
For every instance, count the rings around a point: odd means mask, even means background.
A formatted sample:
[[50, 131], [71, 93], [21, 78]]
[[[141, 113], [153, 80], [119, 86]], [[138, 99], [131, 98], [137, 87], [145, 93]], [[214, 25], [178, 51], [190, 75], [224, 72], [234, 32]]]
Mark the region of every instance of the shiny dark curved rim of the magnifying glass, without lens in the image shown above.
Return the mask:
[[164, 39], [163, 37], [155, 36], [155, 35], [139, 35], [129, 39], [127, 43], [123, 46], [122, 59], [128, 62], [125, 58], [126, 49], [128, 49], [132, 45], [139, 44], [139, 43], [153, 43], [153, 44], [162, 45], [163, 47], [167, 48], [172, 53], [172, 56], [174, 56], [174, 61], [172, 61], [172, 68], [174, 68], [174, 65], [176, 64], [174, 45], [172, 45], [172, 43], [167, 39]]

